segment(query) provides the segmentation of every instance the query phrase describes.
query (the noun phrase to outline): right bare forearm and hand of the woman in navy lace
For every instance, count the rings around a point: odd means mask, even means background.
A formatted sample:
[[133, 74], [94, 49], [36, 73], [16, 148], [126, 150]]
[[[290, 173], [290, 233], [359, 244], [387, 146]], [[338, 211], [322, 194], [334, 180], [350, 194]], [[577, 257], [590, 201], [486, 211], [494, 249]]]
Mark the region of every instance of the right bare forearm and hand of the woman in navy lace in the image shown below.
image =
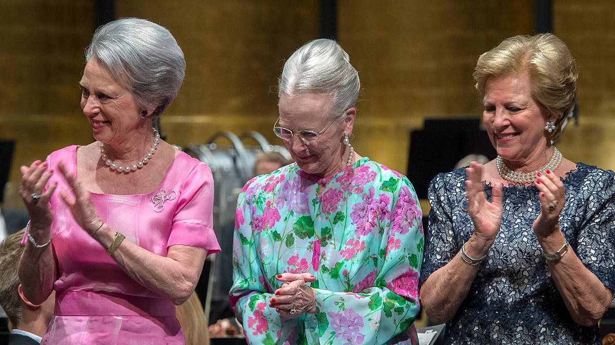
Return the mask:
[[[545, 253], [555, 253], [565, 242], [558, 224], [565, 204], [564, 186], [555, 173], [538, 177], [536, 188], [541, 192], [541, 214], [534, 221], [534, 233]], [[557, 200], [555, 207], [550, 203]], [[598, 323], [611, 304], [613, 292], [590, 272], [572, 248], [559, 260], [547, 260], [547, 266], [573, 320], [579, 325]]]

